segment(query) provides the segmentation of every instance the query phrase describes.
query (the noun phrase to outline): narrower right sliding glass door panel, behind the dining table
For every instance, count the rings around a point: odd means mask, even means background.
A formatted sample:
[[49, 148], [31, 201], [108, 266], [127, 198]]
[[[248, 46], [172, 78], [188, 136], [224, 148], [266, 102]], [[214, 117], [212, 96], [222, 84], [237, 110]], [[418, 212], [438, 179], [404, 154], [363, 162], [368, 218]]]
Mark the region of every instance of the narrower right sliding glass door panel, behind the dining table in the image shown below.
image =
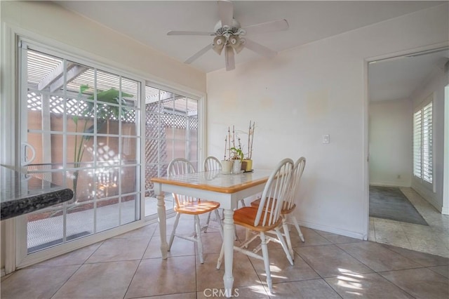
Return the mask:
[[[151, 178], [167, 175], [172, 159], [186, 158], [199, 166], [199, 100], [145, 87], [145, 216], [156, 215]], [[173, 210], [171, 194], [166, 209]]]

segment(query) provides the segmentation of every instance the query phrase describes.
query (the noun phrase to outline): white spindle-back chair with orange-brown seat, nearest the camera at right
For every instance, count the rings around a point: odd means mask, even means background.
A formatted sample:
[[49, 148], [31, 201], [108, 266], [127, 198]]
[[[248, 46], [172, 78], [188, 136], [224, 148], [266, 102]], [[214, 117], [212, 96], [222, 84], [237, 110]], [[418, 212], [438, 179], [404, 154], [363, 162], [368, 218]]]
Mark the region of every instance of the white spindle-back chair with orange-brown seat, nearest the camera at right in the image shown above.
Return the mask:
[[[234, 211], [234, 224], [241, 225], [247, 229], [258, 232], [253, 238], [246, 240], [241, 246], [234, 246], [235, 251], [244, 253], [250, 257], [264, 261], [265, 272], [267, 274], [267, 286], [272, 292], [272, 276], [269, 268], [268, 246], [269, 241], [280, 243], [283, 251], [286, 253], [290, 265], [293, 265], [293, 259], [290, 256], [286, 242], [281, 234], [283, 225], [281, 211], [282, 204], [288, 195], [288, 187], [290, 184], [290, 176], [293, 171], [293, 161], [291, 159], [283, 159], [276, 166], [272, 174], [269, 176], [265, 184], [260, 205], [255, 208], [253, 206], [243, 206]], [[275, 237], [267, 232], [274, 231]], [[260, 245], [253, 250], [248, 250], [248, 244], [260, 237]], [[258, 252], [262, 249], [262, 255]], [[220, 269], [223, 258], [223, 246], [217, 261], [217, 269]]]

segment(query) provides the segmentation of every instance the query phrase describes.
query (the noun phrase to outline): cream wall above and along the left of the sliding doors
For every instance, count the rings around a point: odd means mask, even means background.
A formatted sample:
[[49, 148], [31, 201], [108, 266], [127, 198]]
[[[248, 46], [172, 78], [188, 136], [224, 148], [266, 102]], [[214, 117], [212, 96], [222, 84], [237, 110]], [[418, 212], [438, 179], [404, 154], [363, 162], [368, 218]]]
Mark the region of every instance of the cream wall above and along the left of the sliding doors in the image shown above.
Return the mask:
[[[31, 39], [58, 47], [63, 51], [73, 52], [76, 49], [78, 55], [85, 55], [84, 57], [133, 73], [158, 84], [166, 84], [189, 93], [206, 93], [206, 74], [203, 72], [168, 58], [165, 54], [117, 34], [96, 22], [66, 11], [51, 1], [0, 1], [0, 5], [2, 59], [6, 57], [6, 47], [9, 46], [5, 43], [8, 41], [6, 35], [10, 32], [20, 32]], [[11, 28], [11, 31], [8, 31], [8, 28]], [[5, 86], [14, 86], [14, 82], [10, 80], [14, 76], [8, 74], [8, 71], [13, 72], [13, 68], [13, 59], [1, 61], [2, 101], [13, 98], [9, 95], [5, 96]], [[8, 92], [13, 93], [12, 91]], [[13, 105], [11, 103], [6, 105], [5, 102], [2, 102], [1, 107], [4, 109], [5, 106]], [[1, 128], [1, 150], [5, 151], [6, 145], [13, 147], [15, 142], [15, 136], [11, 134], [14, 131], [11, 124], [14, 124], [15, 121], [14, 116], [11, 115], [2, 114], [1, 117], [1, 124], [8, 125], [7, 128], [6, 126]], [[10, 117], [11, 121], [5, 120], [6, 117]], [[4, 142], [4, 140], [8, 141]], [[5, 163], [3, 157], [1, 163]], [[11, 161], [9, 163], [13, 164]], [[1, 222], [0, 243], [0, 267], [4, 268], [4, 221]]]

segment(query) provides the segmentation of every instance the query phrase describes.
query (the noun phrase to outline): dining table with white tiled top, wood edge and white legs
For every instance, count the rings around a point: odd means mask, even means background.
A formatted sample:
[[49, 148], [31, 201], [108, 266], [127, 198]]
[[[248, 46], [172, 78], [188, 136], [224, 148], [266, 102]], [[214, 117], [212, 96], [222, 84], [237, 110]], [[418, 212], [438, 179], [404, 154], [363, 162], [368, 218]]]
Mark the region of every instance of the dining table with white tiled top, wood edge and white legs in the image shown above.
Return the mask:
[[182, 175], [152, 178], [157, 198], [157, 213], [161, 236], [162, 258], [167, 258], [165, 193], [184, 194], [198, 199], [217, 201], [223, 208], [223, 249], [225, 253], [224, 293], [232, 296], [234, 277], [234, 210], [241, 199], [263, 191], [271, 170], [254, 169], [250, 172], [225, 174], [222, 171], [203, 171]]

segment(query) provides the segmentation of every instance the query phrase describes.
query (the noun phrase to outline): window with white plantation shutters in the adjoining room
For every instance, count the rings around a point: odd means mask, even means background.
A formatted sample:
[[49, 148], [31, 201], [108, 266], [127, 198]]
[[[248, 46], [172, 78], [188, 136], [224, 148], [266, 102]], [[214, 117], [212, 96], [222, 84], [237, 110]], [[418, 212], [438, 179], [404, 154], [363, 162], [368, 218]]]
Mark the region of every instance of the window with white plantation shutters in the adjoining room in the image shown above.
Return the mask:
[[433, 183], [432, 96], [413, 115], [413, 175]]

